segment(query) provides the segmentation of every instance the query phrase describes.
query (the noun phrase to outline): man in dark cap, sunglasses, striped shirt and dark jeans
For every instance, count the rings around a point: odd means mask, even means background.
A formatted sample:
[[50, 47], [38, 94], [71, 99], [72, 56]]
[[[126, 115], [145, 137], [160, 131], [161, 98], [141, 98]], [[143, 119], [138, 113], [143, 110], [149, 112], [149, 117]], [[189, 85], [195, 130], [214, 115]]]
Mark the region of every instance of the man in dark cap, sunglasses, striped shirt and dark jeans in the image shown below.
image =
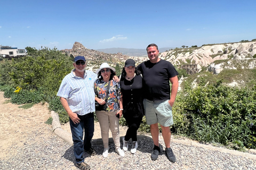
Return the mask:
[[73, 65], [75, 69], [62, 80], [57, 96], [60, 97], [61, 104], [69, 116], [76, 166], [90, 169], [90, 166], [84, 163], [83, 151], [91, 155], [97, 154], [91, 147], [94, 132], [93, 112], [95, 112], [93, 86], [97, 74], [85, 70], [84, 56], [76, 56]]

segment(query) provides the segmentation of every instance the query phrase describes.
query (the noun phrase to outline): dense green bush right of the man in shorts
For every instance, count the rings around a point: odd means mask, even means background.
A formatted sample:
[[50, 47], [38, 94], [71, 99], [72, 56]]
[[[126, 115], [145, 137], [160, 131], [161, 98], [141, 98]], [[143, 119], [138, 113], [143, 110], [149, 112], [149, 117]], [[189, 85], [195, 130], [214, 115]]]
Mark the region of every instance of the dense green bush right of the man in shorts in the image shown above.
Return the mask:
[[185, 86], [174, 103], [177, 133], [201, 142], [241, 143], [256, 148], [256, 90], [227, 87], [221, 81]]

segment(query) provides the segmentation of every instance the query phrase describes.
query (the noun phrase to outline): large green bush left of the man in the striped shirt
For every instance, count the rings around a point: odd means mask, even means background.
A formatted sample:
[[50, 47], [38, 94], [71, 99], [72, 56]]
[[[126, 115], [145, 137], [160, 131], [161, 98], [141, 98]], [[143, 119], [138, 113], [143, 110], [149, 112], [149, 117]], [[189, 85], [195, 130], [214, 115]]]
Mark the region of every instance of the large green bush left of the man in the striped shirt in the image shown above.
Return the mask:
[[73, 69], [71, 58], [56, 48], [28, 49], [28, 56], [0, 63], [0, 85], [57, 92], [61, 80]]

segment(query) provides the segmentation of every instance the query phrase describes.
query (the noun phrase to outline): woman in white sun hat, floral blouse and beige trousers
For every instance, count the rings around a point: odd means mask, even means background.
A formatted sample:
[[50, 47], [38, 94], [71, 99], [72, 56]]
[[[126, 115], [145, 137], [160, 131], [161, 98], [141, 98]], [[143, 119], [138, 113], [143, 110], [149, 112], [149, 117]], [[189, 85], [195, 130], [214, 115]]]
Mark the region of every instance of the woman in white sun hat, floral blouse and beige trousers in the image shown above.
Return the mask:
[[[95, 101], [100, 105], [105, 105], [106, 108], [102, 111], [96, 111], [96, 116], [100, 123], [101, 138], [103, 141], [103, 157], [108, 156], [109, 146], [109, 129], [115, 143], [115, 151], [120, 156], [124, 156], [124, 151], [120, 148], [119, 136], [119, 118], [122, 116], [122, 94], [119, 82], [113, 80], [115, 69], [110, 67], [107, 63], [102, 63], [100, 68], [96, 71], [98, 79], [94, 82]], [[109, 86], [108, 98], [106, 99], [107, 87]], [[120, 109], [119, 109], [120, 108]]]

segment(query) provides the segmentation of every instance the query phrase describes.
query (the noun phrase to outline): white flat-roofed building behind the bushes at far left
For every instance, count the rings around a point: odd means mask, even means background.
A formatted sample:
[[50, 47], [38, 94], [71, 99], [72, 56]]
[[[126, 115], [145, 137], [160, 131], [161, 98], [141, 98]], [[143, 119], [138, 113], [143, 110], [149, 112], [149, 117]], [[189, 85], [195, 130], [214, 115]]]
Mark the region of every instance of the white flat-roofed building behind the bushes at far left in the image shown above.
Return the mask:
[[0, 55], [6, 58], [26, 56], [26, 49], [18, 49], [17, 47], [0, 48]]

